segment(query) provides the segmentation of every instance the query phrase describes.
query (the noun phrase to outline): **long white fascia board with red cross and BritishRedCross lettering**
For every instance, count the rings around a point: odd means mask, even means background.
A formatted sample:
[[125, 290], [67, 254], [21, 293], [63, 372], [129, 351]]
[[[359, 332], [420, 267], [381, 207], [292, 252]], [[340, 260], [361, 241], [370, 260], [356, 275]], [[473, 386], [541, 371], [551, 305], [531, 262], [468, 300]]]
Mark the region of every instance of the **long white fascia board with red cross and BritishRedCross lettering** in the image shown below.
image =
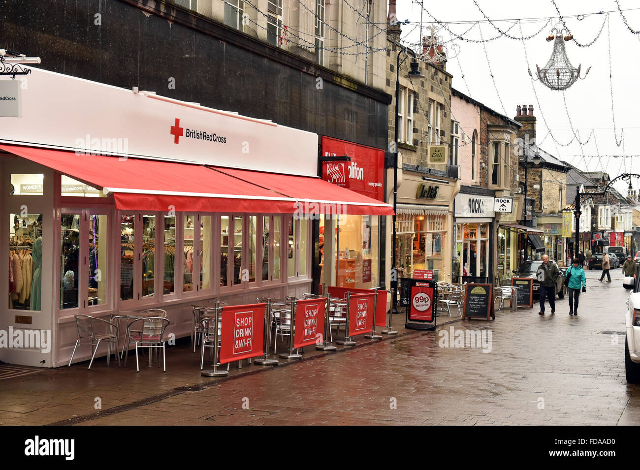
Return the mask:
[[313, 132], [29, 68], [4, 143], [317, 176]]

